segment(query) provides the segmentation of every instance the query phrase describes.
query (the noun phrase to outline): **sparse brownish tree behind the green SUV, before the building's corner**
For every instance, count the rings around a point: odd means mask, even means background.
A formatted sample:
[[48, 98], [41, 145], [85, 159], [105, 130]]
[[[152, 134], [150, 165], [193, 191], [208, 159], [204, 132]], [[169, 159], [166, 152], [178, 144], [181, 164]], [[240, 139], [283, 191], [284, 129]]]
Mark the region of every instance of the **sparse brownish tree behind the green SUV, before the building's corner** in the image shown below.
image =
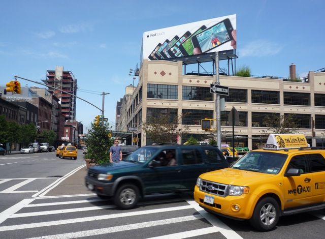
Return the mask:
[[174, 116], [170, 113], [151, 115], [147, 122], [142, 123], [142, 127], [147, 137], [153, 142], [176, 142], [177, 136], [182, 136], [189, 132], [189, 126], [187, 125], [179, 128], [184, 116]]

